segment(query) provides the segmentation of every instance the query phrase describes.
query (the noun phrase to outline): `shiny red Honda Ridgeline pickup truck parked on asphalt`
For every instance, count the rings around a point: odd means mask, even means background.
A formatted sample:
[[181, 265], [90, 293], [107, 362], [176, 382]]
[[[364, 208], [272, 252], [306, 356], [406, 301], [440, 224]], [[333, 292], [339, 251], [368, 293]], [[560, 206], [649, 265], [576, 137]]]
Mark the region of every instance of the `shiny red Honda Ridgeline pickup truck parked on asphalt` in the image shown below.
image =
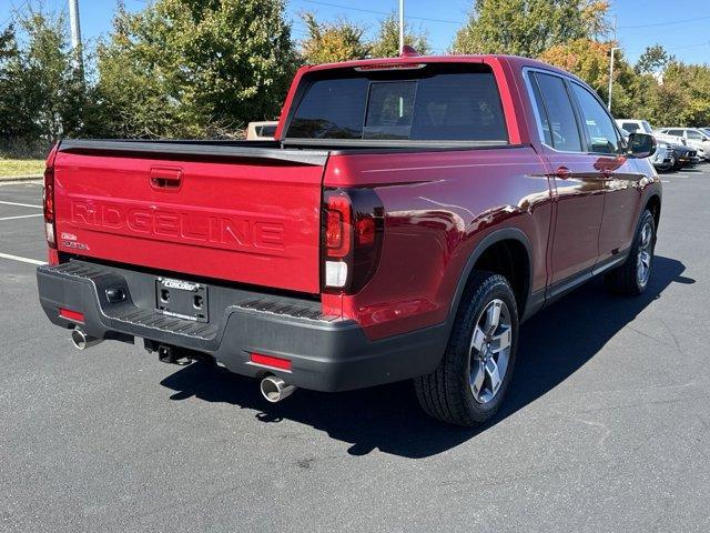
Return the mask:
[[646, 289], [653, 151], [532, 60], [304, 67], [274, 141], [59, 142], [40, 300], [78, 348], [141, 338], [270, 401], [413, 379], [427, 413], [474, 425], [521, 321], [600, 273]]

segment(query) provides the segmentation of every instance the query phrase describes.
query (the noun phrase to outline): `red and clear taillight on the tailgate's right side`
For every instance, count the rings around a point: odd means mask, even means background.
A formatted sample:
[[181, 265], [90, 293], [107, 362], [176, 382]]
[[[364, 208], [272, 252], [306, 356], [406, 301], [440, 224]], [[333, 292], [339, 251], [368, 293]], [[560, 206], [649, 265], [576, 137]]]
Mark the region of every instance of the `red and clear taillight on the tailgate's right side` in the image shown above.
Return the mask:
[[323, 209], [323, 290], [354, 294], [377, 269], [384, 208], [371, 189], [331, 189]]

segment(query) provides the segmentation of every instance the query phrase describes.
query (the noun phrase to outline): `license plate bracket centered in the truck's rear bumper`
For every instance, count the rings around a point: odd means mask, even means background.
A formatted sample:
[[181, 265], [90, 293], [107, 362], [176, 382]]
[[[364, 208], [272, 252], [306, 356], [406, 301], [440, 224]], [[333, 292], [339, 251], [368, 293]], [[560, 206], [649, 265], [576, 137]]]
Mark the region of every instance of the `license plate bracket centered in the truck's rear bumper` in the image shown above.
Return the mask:
[[155, 310], [169, 316], [209, 322], [207, 285], [172, 278], [155, 279]]

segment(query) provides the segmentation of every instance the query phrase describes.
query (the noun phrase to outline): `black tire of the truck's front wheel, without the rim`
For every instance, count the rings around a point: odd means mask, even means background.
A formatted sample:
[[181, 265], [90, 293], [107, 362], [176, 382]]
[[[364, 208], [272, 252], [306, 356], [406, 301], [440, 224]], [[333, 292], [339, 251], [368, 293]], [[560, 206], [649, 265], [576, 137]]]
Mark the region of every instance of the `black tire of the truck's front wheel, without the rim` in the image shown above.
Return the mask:
[[[648, 247], [643, 242], [645, 228], [650, 229], [650, 237]], [[629, 251], [629, 257], [621, 266], [616, 268], [606, 275], [607, 289], [613, 294], [622, 296], [638, 296], [646, 292], [648, 282], [650, 280], [653, 270], [653, 250], [656, 248], [656, 221], [651, 212], [646, 209], [641, 213], [639, 224], [633, 234], [633, 244]], [[641, 279], [639, 272], [639, 261], [642, 251], [647, 251], [648, 259], [648, 272], [646, 272], [645, 279]]]

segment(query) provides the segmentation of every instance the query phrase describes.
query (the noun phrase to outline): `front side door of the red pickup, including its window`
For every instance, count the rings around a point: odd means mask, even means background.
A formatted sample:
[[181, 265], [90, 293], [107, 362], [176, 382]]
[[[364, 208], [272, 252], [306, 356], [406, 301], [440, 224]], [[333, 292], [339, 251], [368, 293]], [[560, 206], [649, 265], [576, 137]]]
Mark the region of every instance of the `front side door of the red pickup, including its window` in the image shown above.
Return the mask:
[[651, 165], [625, 155], [621, 134], [599, 97], [577, 82], [569, 81], [569, 87], [578, 104], [589, 163], [600, 173], [604, 185], [599, 232], [599, 261], [604, 261], [631, 244], [638, 220], [639, 181], [651, 172]]

